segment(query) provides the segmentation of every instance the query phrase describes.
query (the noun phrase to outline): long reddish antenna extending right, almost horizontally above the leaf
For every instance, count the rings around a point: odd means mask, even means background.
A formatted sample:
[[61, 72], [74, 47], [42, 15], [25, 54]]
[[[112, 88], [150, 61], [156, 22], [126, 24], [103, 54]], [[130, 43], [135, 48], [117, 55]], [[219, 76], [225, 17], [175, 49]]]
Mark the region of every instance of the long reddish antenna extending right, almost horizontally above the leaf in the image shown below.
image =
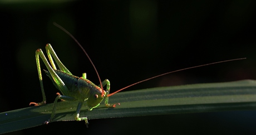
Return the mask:
[[174, 73], [174, 72], [179, 72], [179, 71], [184, 71], [184, 70], [186, 70], [186, 69], [191, 69], [191, 68], [196, 68], [196, 67], [208, 66], [208, 65], [210, 65], [210, 64], [217, 64], [217, 63], [223, 63], [223, 62], [237, 61], [237, 60], [241, 60], [241, 59], [246, 59], [246, 58], [229, 59], [229, 60], [226, 60], [226, 61], [220, 61], [220, 62], [213, 62], [213, 63], [208, 63], [208, 64], [202, 64], [202, 65], [200, 65], [200, 66], [194, 66], [194, 67], [189, 67], [189, 68], [183, 68], [183, 69], [179, 69], [179, 70], [176, 70], [176, 71], [171, 71], [171, 72], [159, 74], [158, 76], [150, 77], [150, 78], [144, 79], [144, 80], [142, 80], [142, 81], [139, 81], [139, 82], [130, 84], [129, 86], [126, 86], [126, 87], [124, 87], [124, 88], [121, 88], [121, 89], [119, 89], [119, 90], [116, 91], [116, 92], [113, 92], [113, 93], [111, 93], [111, 94], [108, 94], [107, 97], [110, 97], [110, 96], [114, 95], [115, 93], [120, 92], [120, 91], [122, 91], [122, 90], [124, 90], [124, 89], [126, 89], [126, 88], [129, 88], [129, 87], [131, 87], [131, 86], [134, 86], [135, 84], [142, 83], [142, 82], [145, 82], [145, 81], [149, 81], [150, 79], [154, 79], [154, 78], [156, 78], [156, 77], [164, 76], [164, 75], [166, 75], [166, 74], [170, 74], [170, 73]]

